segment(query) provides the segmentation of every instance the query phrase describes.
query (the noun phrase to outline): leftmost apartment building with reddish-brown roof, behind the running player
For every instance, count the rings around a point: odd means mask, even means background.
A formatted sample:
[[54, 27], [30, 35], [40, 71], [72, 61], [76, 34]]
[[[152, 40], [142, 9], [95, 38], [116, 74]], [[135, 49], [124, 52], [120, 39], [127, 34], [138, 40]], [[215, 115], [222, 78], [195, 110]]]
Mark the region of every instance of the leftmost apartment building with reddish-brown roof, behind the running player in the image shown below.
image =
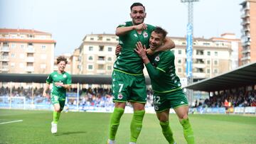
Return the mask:
[[50, 33], [0, 28], [0, 72], [53, 72], [55, 43]]

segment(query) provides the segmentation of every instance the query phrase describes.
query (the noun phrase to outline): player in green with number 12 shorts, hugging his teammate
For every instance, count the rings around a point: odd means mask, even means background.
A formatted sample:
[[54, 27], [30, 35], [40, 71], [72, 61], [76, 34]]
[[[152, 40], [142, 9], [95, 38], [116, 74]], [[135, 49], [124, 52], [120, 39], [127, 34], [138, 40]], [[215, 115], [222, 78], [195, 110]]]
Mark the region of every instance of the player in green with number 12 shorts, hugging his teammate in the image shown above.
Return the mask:
[[[149, 39], [150, 49], [158, 49], [164, 43], [166, 34], [167, 32], [164, 29], [156, 27]], [[169, 143], [175, 143], [169, 126], [169, 111], [173, 108], [183, 126], [186, 142], [189, 144], [195, 143], [193, 130], [188, 121], [188, 100], [182, 92], [180, 79], [175, 73], [174, 53], [166, 50], [156, 52], [148, 58], [146, 56], [146, 46], [140, 42], [137, 43], [135, 51], [139, 57], [142, 57], [146, 70], [149, 72], [154, 92], [154, 109], [164, 137]]]

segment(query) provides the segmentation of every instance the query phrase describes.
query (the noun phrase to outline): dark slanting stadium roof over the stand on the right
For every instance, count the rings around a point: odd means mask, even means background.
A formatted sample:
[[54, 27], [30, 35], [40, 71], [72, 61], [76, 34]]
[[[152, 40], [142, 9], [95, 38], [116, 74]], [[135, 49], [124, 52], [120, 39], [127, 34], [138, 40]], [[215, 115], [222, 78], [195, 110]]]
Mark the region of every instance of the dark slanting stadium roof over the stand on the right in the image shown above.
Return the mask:
[[256, 62], [238, 67], [238, 69], [220, 74], [216, 77], [203, 79], [185, 87], [205, 92], [215, 92], [256, 84]]

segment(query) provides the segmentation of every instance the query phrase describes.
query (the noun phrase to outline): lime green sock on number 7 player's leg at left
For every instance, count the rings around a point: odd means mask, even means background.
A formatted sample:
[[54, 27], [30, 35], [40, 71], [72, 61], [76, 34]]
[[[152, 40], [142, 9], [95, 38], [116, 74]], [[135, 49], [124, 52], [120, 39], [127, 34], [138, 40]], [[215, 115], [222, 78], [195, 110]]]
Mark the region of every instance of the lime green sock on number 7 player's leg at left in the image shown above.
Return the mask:
[[115, 135], [117, 134], [117, 128], [120, 123], [120, 118], [122, 114], [124, 113], [124, 109], [122, 108], [114, 108], [114, 112], [112, 113], [112, 116], [110, 118], [110, 140], [115, 139]]

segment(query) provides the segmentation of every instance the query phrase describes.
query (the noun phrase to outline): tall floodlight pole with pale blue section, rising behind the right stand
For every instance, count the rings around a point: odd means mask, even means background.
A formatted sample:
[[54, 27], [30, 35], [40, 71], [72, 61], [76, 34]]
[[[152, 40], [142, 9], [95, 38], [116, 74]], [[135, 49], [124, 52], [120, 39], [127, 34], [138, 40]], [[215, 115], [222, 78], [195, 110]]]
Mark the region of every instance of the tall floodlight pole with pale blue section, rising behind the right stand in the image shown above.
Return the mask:
[[[199, 0], [181, 0], [182, 3], [188, 3], [188, 24], [186, 35], [186, 77], [188, 84], [193, 83], [193, 2]], [[186, 89], [188, 101], [193, 102], [193, 90]]]

